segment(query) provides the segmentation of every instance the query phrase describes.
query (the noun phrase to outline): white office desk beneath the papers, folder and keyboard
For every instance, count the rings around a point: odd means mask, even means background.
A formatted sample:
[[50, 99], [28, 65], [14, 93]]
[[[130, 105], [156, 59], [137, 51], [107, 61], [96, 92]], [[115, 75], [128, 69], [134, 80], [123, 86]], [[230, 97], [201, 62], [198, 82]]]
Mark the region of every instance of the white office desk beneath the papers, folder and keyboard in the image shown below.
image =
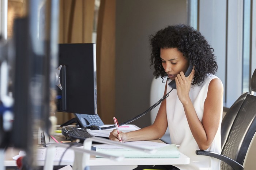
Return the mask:
[[[57, 135], [58, 141], [63, 141], [65, 138], [62, 135]], [[154, 140], [153, 142], [162, 142]], [[9, 147], [5, 154], [4, 166], [15, 167], [16, 161], [12, 157], [19, 154], [19, 150]], [[95, 158], [91, 155], [89, 165], [91, 170], [132, 170], [138, 165], [182, 165], [188, 164], [189, 158], [180, 153], [180, 158], [124, 158], [122, 161], [113, 161], [107, 158]], [[37, 161], [38, 166], [44, 166], [44, 161]], [[54, 165], [59, 165], [59, 161], [55, 161]], [[62, 161], [60, 165], [73, 165], [73, 162]]]

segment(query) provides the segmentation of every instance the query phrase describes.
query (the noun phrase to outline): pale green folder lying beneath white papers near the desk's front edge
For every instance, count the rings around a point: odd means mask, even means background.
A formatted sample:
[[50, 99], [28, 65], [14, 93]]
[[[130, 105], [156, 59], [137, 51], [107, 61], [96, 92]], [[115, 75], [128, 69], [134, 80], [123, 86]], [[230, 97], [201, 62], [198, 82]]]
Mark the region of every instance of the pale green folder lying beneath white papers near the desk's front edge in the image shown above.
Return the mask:
[[[150, 148], [149, 148], [150, 149]], [[135, 149], [100, 149], [96, 148], [96, 152], [105, 153], [113, 156], [123, 156], [125, 158], [179, 158], [180, 151], [176, 144], [159, 147], [155, 153], [146, 153]], [[100, 157], [96, 155], [96, 157]]]

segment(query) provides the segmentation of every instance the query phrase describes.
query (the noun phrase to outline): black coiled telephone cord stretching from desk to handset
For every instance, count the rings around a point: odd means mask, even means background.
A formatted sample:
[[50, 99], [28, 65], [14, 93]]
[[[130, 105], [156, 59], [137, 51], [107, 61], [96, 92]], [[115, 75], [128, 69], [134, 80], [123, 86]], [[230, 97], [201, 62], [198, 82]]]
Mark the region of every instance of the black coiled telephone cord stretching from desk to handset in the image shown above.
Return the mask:
[[[172, 88], [173, 90], [173, 88]], [[165, 100], [168, 96], [169, 96], [169, 93], [172, 91], [170, 90], [166, 95], [164, 95], [160, 100], [158, 100], [157, 103], [155, 103], [153, 106], [151, 106], [150, 108], [148, 108], [146, 111], [142, 112], [141, 114], [135, 116], [134, 118], [126, 121], [126, 122], [123, 122], [123, 123], [120, 123], [119, 126], [123, 126], [124, 124], [128, 124], [128, 123], [131, 123], [133, 122], [134, 120], [136, 119], [139, 119], [140, 117], [146, 115], [148, 112], [150, 112], [153, 108], [157, 107], [160, 103], [162, 103], [163, 100]], [[115, 128], [116, 126], [108, 126], [108, 127], [102, 127], [101, 130], [107, 130], [107, 129], [112, 129], [112, 128]]]

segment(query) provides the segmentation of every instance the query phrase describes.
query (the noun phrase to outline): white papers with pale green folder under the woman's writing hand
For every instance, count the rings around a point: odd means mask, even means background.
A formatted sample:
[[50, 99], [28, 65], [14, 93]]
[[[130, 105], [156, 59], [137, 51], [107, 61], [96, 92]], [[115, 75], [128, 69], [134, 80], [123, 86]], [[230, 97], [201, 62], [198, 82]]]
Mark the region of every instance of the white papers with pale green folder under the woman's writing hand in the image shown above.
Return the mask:
[[[134, 145], [138, 147], [144, 147], [147, 149], [157, 149], [156, 153], [145, 153], [143, 151], [138, 151], [134, 149], [122, 148], [119, 146], [112, 145], [95, 145], [96, 152], [101, 152], [105, 154], [110, 154], [113, 156], [124, 156], [125, 158], [179, 158], [180, 151], [178, 150], [176, 144], [166, 144], [150, 141], [136, 141], [136, 142], [126, 142], [125, 144]], [[98, 156], [96, 156], [98, 157]]]

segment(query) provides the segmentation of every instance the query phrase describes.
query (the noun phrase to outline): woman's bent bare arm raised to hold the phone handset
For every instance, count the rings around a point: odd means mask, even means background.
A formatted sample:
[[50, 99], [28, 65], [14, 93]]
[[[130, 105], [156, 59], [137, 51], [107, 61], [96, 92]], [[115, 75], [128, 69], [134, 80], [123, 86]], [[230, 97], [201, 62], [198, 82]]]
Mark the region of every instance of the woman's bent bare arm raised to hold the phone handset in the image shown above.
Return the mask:
[[177, 79], [181, 82], [177, 84], [177, 93], [188, 120], [190, 130], [195, 138], [199, 149], [206, 150], [210, 147], [219, 127], [222, 118], [223, 110], [223, 85], [221, 80], [212, 79], [207, 92], [206, 100], [204, 101], [204, 113], [202, 122], [200, 122], [195, 108], [189, 98], [188, 86], [185, 87], [181, 79], [184, 79], [184, 74]]

